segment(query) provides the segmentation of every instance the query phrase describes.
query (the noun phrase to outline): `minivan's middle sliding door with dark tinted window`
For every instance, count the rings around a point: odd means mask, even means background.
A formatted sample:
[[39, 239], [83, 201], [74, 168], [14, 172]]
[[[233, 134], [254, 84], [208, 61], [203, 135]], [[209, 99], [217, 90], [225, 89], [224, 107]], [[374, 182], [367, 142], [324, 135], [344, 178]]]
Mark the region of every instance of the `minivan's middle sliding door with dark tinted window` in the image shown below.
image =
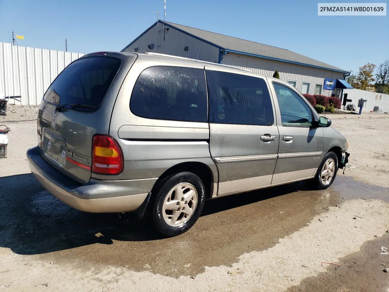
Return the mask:
[[219, 171], [218, 195], [270, 185], [279, 134], [268, 84], [261, 77], [206, 66], [210, 153]]

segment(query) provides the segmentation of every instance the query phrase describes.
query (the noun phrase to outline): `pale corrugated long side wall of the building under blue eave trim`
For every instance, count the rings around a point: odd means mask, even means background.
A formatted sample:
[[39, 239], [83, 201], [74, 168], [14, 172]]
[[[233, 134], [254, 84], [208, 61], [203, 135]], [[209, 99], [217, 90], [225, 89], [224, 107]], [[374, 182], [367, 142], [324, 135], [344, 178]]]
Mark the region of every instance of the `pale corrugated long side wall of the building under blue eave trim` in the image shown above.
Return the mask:
[[[274, 71], [278, 70], [280, 79], [283, 81], [296, 81], [296, 89], [301, 91], [303, 82], [310, 83], [309, 94], [315, 94], [315, 85], [324, 84], [325, 78], [343, 79], [343, 73], [333, 72], [319, 68], [295, 65], [286, 62], [279, 62], [256, 58], [245, 55], [228, 53], [223, 57], [223, 64], [232, 65], [239, 68], [249, 69], [254, 73], [273, 76]], [[322, 90], [322, 95], [331, 96], [335, 91]]]

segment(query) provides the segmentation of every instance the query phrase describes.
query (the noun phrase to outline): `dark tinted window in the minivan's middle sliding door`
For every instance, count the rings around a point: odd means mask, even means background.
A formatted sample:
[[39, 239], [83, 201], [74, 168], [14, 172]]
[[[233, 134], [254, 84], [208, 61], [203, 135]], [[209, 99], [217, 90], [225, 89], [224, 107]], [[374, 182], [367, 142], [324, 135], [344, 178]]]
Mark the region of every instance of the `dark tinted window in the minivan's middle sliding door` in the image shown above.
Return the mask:
[[273, 106], [264, 79], [210, 70], [206, 75], [210, 123], [273, 125]]

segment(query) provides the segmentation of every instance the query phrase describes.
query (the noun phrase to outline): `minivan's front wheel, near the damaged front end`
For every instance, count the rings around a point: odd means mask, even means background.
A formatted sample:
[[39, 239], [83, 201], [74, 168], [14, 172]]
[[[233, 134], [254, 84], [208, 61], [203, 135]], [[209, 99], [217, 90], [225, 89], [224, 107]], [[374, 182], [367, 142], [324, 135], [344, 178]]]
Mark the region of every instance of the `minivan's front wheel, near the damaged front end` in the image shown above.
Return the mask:
[[329, 151], [317, 169], [315, 177], [310, 181], [315, 190], [325, 190], [332, 185], [338, 172], [338, 156]]

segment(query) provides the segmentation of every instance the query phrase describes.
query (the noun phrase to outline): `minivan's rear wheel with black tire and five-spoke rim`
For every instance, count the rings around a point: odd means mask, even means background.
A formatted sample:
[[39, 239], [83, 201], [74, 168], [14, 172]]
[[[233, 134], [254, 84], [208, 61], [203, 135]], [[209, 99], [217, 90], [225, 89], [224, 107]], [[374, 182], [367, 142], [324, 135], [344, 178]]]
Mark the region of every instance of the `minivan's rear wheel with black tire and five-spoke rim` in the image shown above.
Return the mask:
[[172, 237], [186, 232], [203, 211], [205, 188], [193, 172], [171, 174], [162, 179], [153, 192], [149, 217], [163, 236]]

